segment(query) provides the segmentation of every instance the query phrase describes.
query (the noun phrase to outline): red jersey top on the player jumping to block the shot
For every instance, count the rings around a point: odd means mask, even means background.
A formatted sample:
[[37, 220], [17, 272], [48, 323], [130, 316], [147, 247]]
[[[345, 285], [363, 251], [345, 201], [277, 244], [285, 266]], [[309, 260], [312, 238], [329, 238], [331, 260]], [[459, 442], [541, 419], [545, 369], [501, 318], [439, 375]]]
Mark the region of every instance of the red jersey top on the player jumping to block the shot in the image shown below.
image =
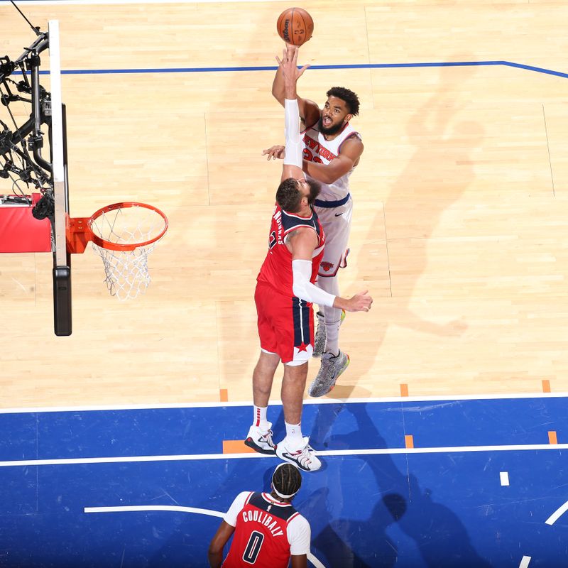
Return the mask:
[[324, 254], [324, 229], [312, 210], [310, 217], [300, 217], [294, 213], [283, 211], [276, 204], [272, 216], [271, 231], [268, 238], [268, 253], [256, 280], [271, 285], [278, 292], [293, 297], [294, 277], [292, 273], [292, 253], [286, 246], [286, 236], [301, 226], [309, 226], [317, 234], [317, 248], [312, 256], [312, 275], [310, 282], [315, 283], [317, 271]]

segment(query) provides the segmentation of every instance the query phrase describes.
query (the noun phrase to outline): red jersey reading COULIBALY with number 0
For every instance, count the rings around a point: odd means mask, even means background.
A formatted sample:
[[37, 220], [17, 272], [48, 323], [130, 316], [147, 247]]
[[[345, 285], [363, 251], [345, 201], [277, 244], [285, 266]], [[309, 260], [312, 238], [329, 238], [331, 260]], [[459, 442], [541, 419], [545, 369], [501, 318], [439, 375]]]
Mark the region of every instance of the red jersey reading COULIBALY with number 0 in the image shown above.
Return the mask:
[[288, 568], [290, 555], [310, 552], [307, 520], [267, 493], [239, 494], [225, 521], [235, 531], [222, 568]]

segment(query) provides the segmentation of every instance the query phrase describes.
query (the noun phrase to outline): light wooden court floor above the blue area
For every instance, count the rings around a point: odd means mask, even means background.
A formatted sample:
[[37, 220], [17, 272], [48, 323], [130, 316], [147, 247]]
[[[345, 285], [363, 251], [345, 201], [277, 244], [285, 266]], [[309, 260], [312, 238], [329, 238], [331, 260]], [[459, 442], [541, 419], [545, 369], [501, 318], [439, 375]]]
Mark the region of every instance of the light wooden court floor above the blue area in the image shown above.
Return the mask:
[[[315, 34], [300, 60], [332, 68], [298, 90], [357, 92], [365, 144], [340, 283], [375, 302], [344, 322], [334, 397], [568, 391], [568, 77], [542, 72], [568, 72], [563, 4], [302, 3]], [[53, 335], [50, 255], [0, 257], [0, 406], [251, 400], [280, 177], [261, 151], [283, 111], [273, 70], [227, 68], [275, 65], [288, 3], [21, 6], [42, 28], [60, 20], [72, 214], [151, 202], [170, 230], [132, 302], [108, 297], [92, 251], [74, 258], [68, 338]], [[31, 43], [5, 2], [0, 28], [0, 55]], [[418, 65], [447, 62], [540, 70]], [[395, 63], [412, 65], [338, 67]]]

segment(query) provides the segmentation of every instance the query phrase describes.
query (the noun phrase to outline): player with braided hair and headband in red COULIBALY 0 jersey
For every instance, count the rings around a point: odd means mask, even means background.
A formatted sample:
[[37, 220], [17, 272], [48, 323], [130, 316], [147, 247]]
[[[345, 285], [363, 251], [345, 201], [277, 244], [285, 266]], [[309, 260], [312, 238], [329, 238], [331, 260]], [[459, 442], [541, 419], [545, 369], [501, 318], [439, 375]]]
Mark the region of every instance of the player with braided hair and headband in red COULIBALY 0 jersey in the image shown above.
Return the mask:
[[[307, 567], [310, 523], [290, 504], [300, 490], [302, 476], [295, 466], [280, 464], [272, 476], [271, 493], [243, 491], [224, 515], [209, 545], [213, 568]], [[234, 533], [224, 562], [223, 548]]]

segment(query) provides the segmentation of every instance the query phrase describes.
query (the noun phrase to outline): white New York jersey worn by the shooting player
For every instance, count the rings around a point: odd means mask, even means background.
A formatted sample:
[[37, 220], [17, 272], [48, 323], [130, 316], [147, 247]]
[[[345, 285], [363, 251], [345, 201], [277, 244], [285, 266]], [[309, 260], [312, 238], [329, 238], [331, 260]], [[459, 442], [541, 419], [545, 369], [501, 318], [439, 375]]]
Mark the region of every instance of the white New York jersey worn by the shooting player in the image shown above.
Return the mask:
[[[303, 158], [307, 162], [329, 164], [339, 155], [342, 143], [352, 136], [356, 136], [361, 140], [359, 132], [356, 132], [353, 126], [348, 122], [344, 126], [344, 129], [333, 140], [326, 140], [324, 135], [320, 132], [319, 123], [316, 123], [314, 126], [310, 126], [309, 129], [305, 129], [305, 131], [302, 132], [302, 140], [304, 143]], [[339, 180], [335, 180], [333, 183], [320, 182], [322, 192], [317, 199], [320, 201], [337, 201], [346, 197], [349, 193], [349, 176], [353, 169], [354, 168], [351, 168], [349, 172], [342, 175]], [[313, 179], [309, 175], [307, 175], [307, 178]]]

